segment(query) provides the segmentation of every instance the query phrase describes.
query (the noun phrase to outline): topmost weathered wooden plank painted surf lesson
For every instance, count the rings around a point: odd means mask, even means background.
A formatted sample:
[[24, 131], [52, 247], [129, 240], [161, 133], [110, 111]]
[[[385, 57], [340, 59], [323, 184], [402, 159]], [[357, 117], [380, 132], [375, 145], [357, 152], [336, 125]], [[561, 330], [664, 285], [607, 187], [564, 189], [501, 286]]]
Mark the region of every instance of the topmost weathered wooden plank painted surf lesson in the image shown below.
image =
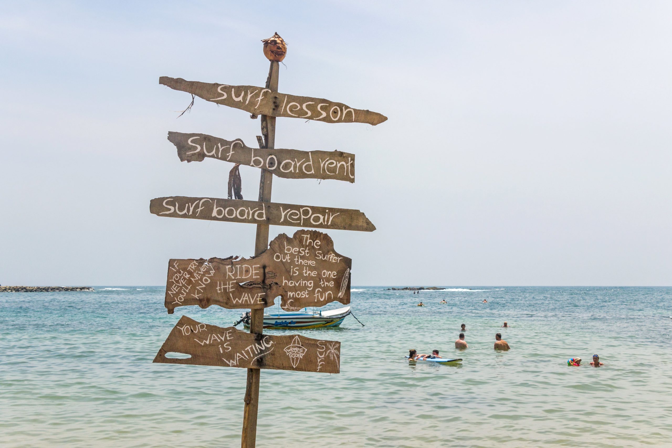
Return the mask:
[[323, 98], [286, 95], [253, 85], [227, 85], [185, 81], [162, 76], [159, 84], [192, 93], [213, 103], [242, 109], [255, 116], [303, 118], [325, 123], [368, 123], [376, 126], [387, 117], [370, 110], [353, 109]]

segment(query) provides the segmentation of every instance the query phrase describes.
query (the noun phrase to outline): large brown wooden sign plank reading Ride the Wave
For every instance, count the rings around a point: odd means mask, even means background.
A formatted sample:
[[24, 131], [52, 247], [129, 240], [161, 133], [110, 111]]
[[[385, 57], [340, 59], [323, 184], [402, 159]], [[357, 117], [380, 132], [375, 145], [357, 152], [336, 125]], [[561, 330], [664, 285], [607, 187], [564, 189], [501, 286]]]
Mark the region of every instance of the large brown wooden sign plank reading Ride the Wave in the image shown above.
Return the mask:
[[282, 298], [284, 310], [350, 303], [352, 260], [334, 251], [333, 240], [317, 230], [280, 234], [258, 257], [171, 259], [165, 307], [260, 309]]

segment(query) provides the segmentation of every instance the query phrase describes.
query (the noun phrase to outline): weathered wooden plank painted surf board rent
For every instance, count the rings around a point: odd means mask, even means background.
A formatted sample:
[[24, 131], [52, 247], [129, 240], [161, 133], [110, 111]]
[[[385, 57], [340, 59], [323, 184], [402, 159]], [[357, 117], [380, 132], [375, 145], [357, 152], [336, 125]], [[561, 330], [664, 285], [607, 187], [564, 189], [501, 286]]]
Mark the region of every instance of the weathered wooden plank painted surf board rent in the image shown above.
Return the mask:
[[168, 132], [179, 160], [200, 162], [206, 157], [262, 168], [286, 179], [337, 179], [355, 181], [355, 154], [341, 151], [259, 149], [237, 138], [229, 141], [207, 134]]

